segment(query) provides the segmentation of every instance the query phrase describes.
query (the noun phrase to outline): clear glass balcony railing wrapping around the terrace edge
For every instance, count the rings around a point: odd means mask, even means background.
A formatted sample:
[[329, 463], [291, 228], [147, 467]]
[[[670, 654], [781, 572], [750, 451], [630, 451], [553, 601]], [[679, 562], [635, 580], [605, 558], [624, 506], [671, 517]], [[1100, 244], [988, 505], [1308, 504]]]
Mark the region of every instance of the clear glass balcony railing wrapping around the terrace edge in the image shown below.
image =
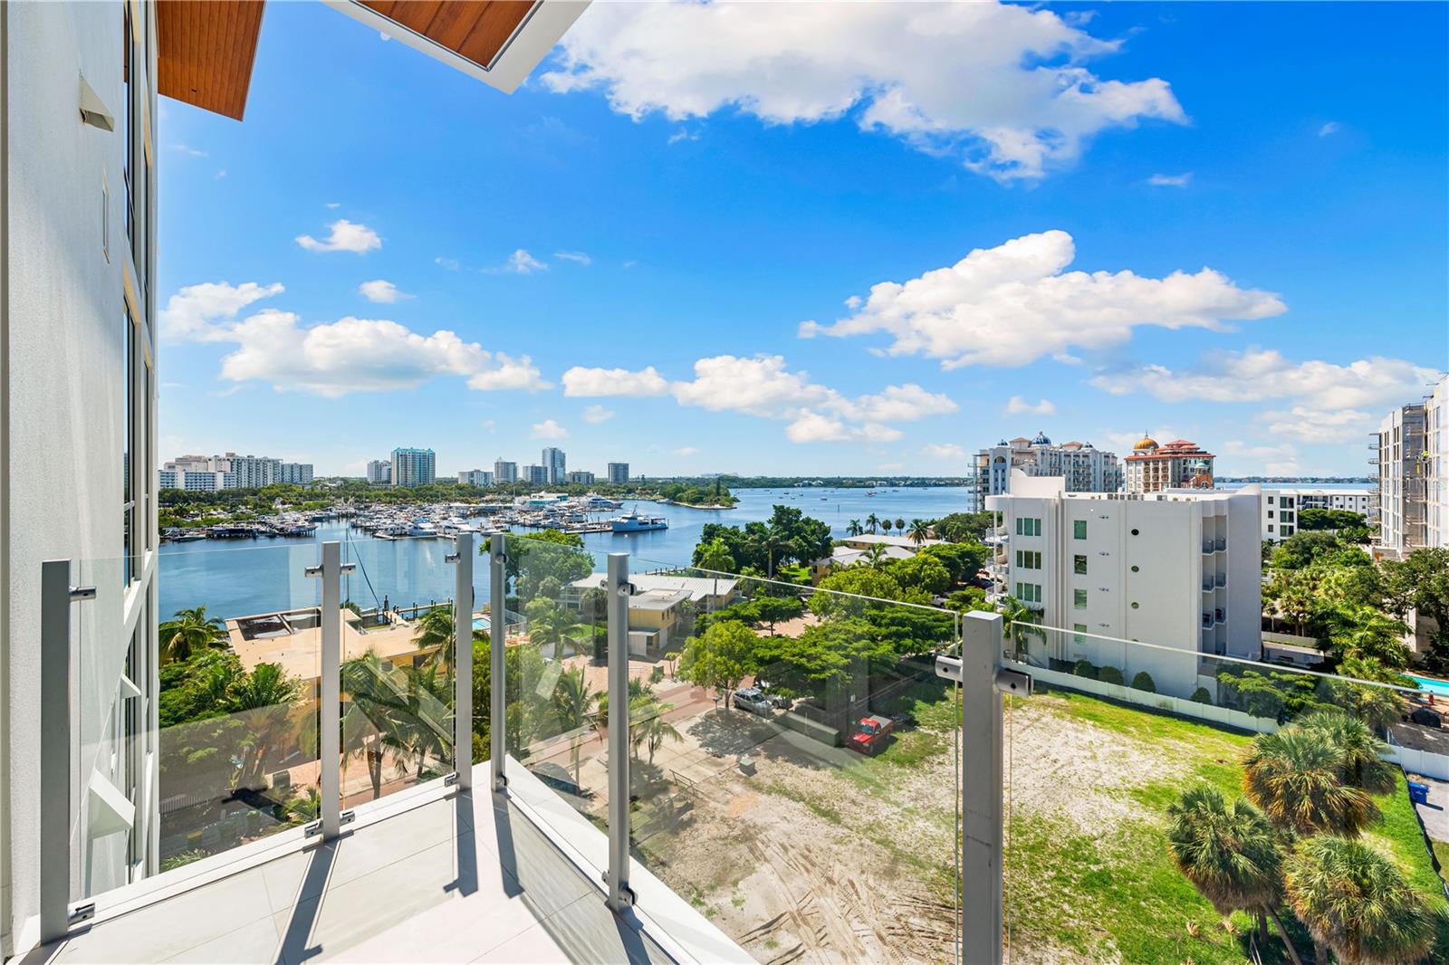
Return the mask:
[[65, 646], [42, 688], [78, 713], [46, 719], [42, 785], [80, 788], [42, 827], [67, 898], [46, 920], [64, 933], [139, 878], [180, 874], [175, 891], [467, 791], [517, 810], [609, 907], [758, 961], [1279, 962], [1285, 942], [1308, 961], [1291, 882], [1226, 907], [1232, 929], [1194, 884], [1194, 835], [1229, 819], [1274, 866], [1308, 861], [1303, 842], [1366, 845], [1427, 916], [1424, 955], [1449, 952], [1404, 778], [1449, 774], [1437, 684], [1259, 662], [1217, 607], [1169, 646], [887, 598], [868, 564], [820, 590], [497, 548], [177, 549], [159, 627], [133, 630], [75, 590], [126, 593], [119, 562], [59, 581], [46, 564]]

